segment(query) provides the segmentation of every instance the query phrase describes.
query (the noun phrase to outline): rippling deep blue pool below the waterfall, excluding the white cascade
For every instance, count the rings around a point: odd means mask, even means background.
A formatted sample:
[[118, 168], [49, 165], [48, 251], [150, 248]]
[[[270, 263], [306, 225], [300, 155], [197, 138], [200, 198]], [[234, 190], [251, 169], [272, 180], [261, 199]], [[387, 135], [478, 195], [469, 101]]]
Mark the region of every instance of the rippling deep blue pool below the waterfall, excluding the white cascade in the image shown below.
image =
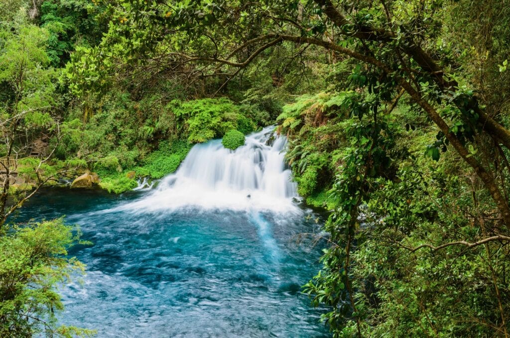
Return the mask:
[[50, 189], [19, 214], [66, 215], [93, 242], [69, 252], [87, 273], [62, 287], [61, 323], [98, 337], [328, 336], [300, 293], [320, 268], [320, 248], [296, 241], [313, 214], [109, 210], [143, 198]]

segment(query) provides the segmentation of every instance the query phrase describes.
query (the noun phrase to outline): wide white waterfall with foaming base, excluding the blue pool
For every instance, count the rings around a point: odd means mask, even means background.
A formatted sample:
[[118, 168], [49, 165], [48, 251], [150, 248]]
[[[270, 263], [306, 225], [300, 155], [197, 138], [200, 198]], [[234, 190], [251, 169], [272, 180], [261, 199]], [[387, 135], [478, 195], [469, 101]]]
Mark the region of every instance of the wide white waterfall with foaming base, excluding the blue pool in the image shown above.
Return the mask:
[[284, 162], [287, 140], [279, 136], [270, 144], [273, 128], [246, 136], [245, 145], [235, 151], [225, 149], [219, 139], [195, 145], [175, 174], [165, 177], [143, 199], [118, 208], [298, 212], [292, 201], [298, 197], [296, 184]]

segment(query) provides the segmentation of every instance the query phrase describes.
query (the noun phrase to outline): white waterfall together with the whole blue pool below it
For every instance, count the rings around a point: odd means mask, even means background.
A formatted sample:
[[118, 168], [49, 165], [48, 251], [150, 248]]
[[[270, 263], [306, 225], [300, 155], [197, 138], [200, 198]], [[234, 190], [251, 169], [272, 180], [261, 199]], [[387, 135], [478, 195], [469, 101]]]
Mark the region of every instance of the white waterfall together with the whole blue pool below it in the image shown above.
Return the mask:
[[22, 219], [66, 214], [82, 239], [69, 255], [87, 265], [64, 286], [62, 324], [98, 337], [323, 337], [319, 312], [300, 294], [320, 247], [293, 201], [284, 137], [272, 127], [235, 151], [220, 140], [193, 147], [179, 170], [121, 196], [47, 191]]

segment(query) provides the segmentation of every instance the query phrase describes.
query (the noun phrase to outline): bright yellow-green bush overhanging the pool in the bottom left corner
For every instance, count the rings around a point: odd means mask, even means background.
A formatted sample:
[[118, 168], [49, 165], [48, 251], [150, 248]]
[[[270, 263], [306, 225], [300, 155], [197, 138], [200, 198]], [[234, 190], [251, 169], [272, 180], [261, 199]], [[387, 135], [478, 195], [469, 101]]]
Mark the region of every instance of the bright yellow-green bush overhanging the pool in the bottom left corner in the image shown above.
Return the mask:
[[78, 241], [62, 219], [31, 223], [0, 236], [0, 336], [94, 333], [58, 326], [55, 316], [63, 310], [55, 288], [67, 283], [71, 273], [84, 271], [80, 262], [65, 258]]

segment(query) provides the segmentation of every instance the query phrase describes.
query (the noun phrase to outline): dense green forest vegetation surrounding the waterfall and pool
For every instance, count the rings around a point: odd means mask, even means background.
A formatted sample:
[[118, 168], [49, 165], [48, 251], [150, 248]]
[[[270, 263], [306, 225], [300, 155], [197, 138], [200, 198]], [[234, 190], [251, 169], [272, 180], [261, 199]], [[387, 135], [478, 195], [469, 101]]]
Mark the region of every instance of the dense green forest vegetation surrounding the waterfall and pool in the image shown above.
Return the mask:
[[[275, 123], [299, 193], [330, 211], [303, 290], [334, 336], [507, 337], [508, 17], [481, 0], [2, 2], [0, 157], [48, 145], [24, 185], [4, 168], [0, 335], [89, 333], [50, 311], [77, 239], [14, 224], [34, 188], [89, 171], [120, 193]], [[39, 238], [27, 272], [11, 252]]]

